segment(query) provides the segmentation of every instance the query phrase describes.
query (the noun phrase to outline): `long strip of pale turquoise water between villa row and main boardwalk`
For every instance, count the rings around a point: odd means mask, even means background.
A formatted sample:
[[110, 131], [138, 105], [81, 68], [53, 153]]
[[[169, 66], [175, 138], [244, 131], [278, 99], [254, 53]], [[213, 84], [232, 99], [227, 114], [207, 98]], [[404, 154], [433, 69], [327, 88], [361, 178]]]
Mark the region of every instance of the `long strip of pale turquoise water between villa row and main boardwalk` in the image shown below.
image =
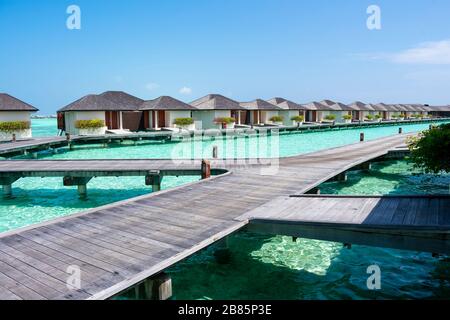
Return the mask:
[[[428, 129], [429, 124], [402, 125], [403, 131], [417, 132]], [[63, 149], [52, 159], [202, 159], [210, 158], [213, 146], [218, 147], [220, 158], [267, 158], [287, 157], [359, 142], [360, 132], [366, 140], [398, 134], [399, 126], [365, 129], [333, 130], [311, 133], [292, 133], [266, 137], [242, 137], [238, 139], [206, 138], [183, 143], [142, 142], [133, 146], [131, 142], [100, 148], [99, 145], [77, 146], [68, 152]], [[126, 148], [124, 148], [126, 146]]]

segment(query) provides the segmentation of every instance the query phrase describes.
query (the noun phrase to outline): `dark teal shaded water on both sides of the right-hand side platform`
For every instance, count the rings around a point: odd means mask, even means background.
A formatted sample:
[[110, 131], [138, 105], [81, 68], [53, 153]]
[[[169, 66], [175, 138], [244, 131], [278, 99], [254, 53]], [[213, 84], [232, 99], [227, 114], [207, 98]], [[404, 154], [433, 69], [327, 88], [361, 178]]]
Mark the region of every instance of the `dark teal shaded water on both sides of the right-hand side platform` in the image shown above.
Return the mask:
[[[351, 172], [327, 183], [330, 194], [448, 193], [450, 175], [422, 175], [405, 161]], [[174, 299], [449, 299], [450, 259], [431, 254], [239, 232], [229, 240], [231, 262], [214, 247], [167, 270]], [[370, 265], [381, 268], [381, 290], [366, 287]]]

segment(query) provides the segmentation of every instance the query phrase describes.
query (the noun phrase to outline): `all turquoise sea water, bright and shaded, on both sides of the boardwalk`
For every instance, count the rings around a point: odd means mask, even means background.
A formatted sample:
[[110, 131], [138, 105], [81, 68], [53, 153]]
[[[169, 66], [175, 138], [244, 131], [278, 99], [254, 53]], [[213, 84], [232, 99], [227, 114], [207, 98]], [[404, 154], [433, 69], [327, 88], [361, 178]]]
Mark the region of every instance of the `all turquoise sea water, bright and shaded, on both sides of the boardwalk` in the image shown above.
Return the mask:
[[[36, 124], [37, 122], [37, 124]], [[42, 135], [52, 129], [50, 122], [36, 120]], [[405, 132], [428, 128], [402, 125]], [[45, 129], [47, 128], [47, 129]], [[47, 131], [48, 130], [48, 131]], [[77, 147], [59, 154], [43, 154], [48, 159], [88, 158], [186, 158], [210, 156], [213, 145], [219, 155], [264, 156], [279, 153], [290, 156], [359, 141], [359, 133], [375, 139], [396, 134], [398, 127], [328, 131], [282, 135], [278, 138], [243, 138], [237, 141], [150, 143], [139, 146]], [[45, 133], [45, 134], [44, 134]], [[242, 143], [244, 142], [244, 143]], [[255, 146], [258, 148], [255, 149]], [[281, 146], [279, 152], [277, 147]], [[448, 176], [417, 175], [404, 162], [377, 165], [369, 173], [351, 173], [346, 183], [322, 186], [327, 193], [386, 194], [443, 193]], [[165, 178], [163, 188], [195, 181], [198, 177]], [[15, 199], [0, 200], [0, 231], [52, 219], [102, 204], [149, 193], [142, 177], [97, 178], [88, 185], [89, 199], [81, 201], [75, 188], [62, 186], [62, 179], [21, 179], [14, 184]], [[214, 247], [170, 268], [175, 299], [411, 299], [450, 297], [448, 257], [430, 254], [272, 237], [240, 232], [230, 239], [232, 260], [217, 264]], [[369, 265], [382, 270], [382, 290], [365, 287]]]

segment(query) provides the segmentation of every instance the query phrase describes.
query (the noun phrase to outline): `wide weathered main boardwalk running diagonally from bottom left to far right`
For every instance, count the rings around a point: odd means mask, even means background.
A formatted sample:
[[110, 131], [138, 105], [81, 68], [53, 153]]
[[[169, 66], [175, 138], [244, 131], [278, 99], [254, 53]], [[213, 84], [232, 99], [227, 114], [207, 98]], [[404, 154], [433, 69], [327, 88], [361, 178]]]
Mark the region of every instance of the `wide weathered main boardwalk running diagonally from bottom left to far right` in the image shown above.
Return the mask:
[[[242, 217], [303, 194], [404, 144], [397, 135], [228, 173], [0, 235], [0, 299], [106, 299], [249, 224]], [[275, 169], [273, 175], [267, 175]], [[67, 267], [82, 288], [66, 286]]]

